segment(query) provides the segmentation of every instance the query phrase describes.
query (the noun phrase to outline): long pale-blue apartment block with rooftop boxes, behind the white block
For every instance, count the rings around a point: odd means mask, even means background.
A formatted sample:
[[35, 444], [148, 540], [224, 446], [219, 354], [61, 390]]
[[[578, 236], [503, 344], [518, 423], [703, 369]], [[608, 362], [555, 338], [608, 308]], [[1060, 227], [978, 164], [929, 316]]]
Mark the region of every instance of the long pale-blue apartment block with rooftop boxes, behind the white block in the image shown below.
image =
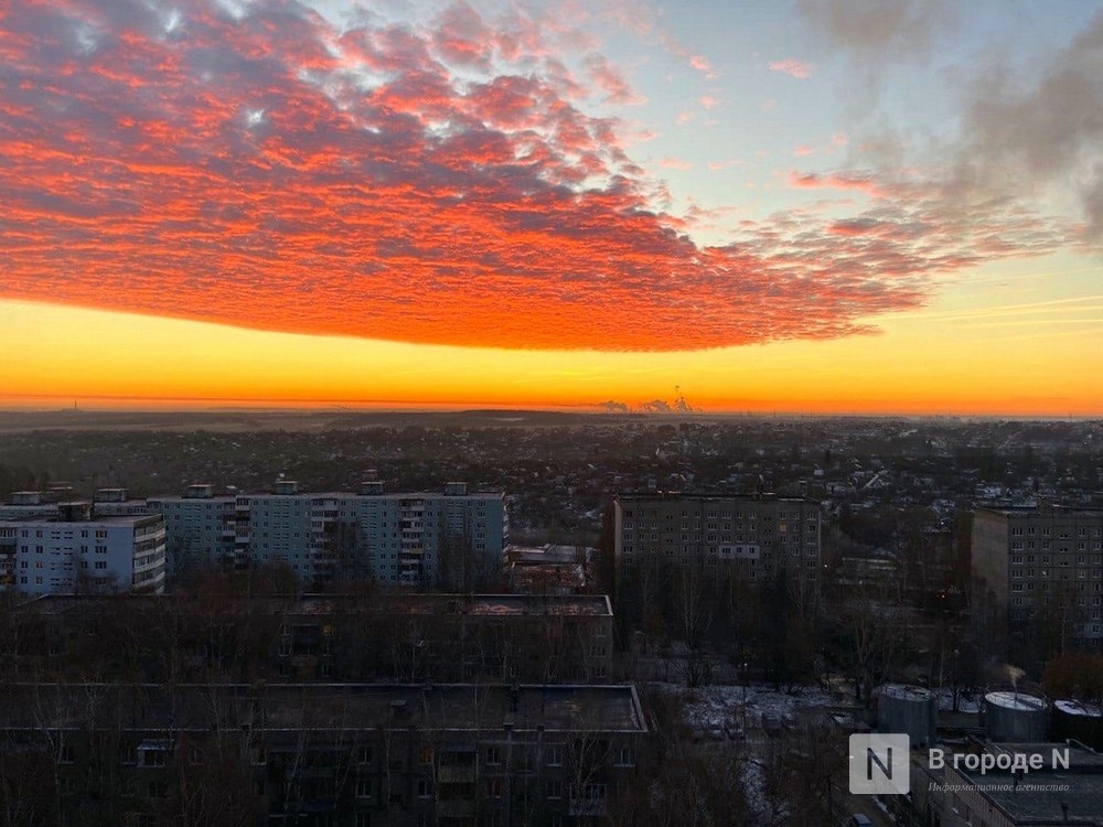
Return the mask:
[[[306, 493], [280, 480], [272, 492], [232, 496], [201, 484], [144, 501], [103, 488], [92, 508], [96, 517], [161, 515], [171, 571], [282, 562], [308, 583], [373, 578], [474, 590], [500, 572], [507, 534], [504, 494], [468, 493], [462, 482], [387, 494], [374, 481], [358, 493]], [[56, 512], [55, 502], [21, 492], [0, 505], [0, 519]]]

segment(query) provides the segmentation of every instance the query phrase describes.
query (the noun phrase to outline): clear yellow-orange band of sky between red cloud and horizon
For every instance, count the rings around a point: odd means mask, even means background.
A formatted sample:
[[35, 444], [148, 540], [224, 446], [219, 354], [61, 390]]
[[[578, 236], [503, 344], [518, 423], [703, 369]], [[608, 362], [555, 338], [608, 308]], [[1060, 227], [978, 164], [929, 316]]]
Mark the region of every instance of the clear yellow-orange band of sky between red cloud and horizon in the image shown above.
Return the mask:
[[679, 386], [711, 412], [1101, 416], [1103, 294], [1084, 299], [1078, 287], [1097, 276], [1091, 267], [1064, 271], [1075, 294], [1050, 298], [1052, 276], [1007, 267], [990, 277], [1010, 299], [1003, 304], [987, 289], [977, 293], [974, 281], [946, 289], [925, 310], [871, 320], [877, 334], [699, 352], [414, 345], [17, 301], [0, 301], [0, 347], [19, 354], [4, 368], [8, 404], [46, 407], [159, 407], [194, 397], [201, 406], [597, 410], [606, 401], [673, 401]]

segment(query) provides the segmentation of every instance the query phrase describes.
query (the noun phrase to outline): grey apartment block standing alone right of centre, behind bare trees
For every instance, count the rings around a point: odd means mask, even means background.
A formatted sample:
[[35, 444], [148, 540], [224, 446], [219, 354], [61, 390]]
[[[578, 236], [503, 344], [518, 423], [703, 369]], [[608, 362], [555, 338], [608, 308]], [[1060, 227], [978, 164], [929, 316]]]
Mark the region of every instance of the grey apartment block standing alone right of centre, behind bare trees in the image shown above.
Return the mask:
[[622, 494], [613, 520], [618, 572], [661, 558], [763, 581], [784, 566], [818, 587], [820, 504], [804, 497]]

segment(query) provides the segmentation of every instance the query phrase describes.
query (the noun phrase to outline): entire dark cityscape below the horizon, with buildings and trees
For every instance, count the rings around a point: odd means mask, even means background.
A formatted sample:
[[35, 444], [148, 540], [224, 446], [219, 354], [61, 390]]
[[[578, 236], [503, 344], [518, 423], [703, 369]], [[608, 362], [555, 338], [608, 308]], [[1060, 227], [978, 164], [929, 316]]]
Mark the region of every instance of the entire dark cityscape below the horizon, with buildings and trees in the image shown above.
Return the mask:
[[0, 414], [0, 825], [1103, 827], [1100, 420]]

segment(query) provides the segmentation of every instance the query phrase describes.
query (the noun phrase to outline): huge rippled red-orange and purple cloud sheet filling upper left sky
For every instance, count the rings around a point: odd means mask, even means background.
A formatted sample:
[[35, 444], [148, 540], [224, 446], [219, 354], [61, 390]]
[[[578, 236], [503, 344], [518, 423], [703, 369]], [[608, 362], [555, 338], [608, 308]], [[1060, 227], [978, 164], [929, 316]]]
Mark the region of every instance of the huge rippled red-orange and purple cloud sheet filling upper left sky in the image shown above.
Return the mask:
[[[656, 210], [663, 190], [618, 125], [574, 106], [564, 64], [522, 51], [532, 32], [494, 32], [467, 6], [343, 32], [293, 0], [242, 9], [4, 8], [0, 296], [407, 342], [687, 350], [866, 330], [981, 255], [922, 193], [853, 226], [778, 216], [700, 247]], [[606, 65], [591, 80], [612, 94]], [[1051, 228], [990, 210], [985, 238], [1029, 237], [999, 255], [1052, 246]]]

